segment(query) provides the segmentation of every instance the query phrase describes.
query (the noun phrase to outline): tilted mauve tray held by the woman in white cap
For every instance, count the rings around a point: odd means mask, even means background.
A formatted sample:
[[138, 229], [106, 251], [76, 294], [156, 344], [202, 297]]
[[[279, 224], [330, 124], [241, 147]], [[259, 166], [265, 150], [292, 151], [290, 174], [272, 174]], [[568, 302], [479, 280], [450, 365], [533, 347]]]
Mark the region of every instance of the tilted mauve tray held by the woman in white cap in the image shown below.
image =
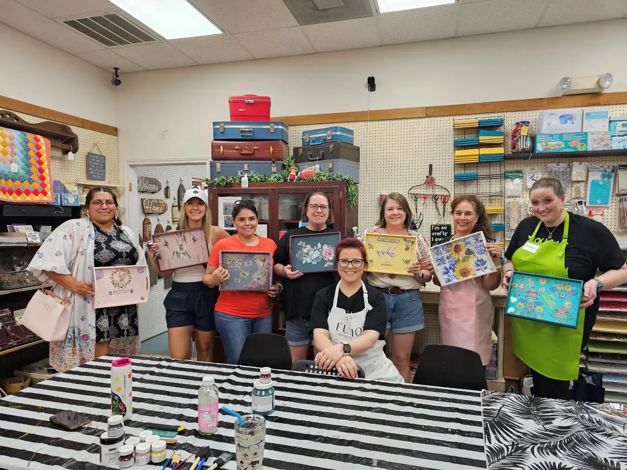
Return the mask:
[[198, 266], [209, 259], [203, 227], [154, 234], [152, 242], [161, 255], [157, 260], [161, 271]]

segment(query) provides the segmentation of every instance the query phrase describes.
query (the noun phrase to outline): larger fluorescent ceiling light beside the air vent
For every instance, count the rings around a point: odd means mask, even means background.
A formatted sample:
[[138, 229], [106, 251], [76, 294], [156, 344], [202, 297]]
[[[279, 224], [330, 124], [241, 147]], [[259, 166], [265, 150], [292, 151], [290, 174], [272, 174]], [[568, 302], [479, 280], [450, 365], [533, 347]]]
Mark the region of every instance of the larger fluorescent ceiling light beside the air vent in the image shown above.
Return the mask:
[[110, 0], [110, 2], [166, 39], [222, 33], [187, 0]]

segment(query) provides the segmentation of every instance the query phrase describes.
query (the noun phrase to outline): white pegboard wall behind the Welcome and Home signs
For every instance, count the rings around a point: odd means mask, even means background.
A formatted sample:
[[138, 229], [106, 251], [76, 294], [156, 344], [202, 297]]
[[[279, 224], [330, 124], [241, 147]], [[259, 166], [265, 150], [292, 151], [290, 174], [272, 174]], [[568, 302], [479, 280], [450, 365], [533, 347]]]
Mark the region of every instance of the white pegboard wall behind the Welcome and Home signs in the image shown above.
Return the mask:
[[[203, 165], [159, 165], [159, 166], [145, 166], [135, 167], [137, 170], [137, 176], [145, 176], [150, 178], [156, 178], [161, 182], [161, 191], [155, 192], [137, 192], [134, 191], [131, 194], [135, 194], [136, 200], [132, 200], [129, 204], [137, 204], [139, 207], [140, 216], [136, 221], [131, 221], [131, 227], [139, 236], [144, 233], [144, 217], [150, 219], [151, 231], [154, 234], [155, 227], [158, 223], [164, 227], [169, 225], [176, 229], [177, 224], [172, 223], [172, 202], [174, 197], [177, 197], [177, 191], [181, 179], [185, 189], [192, 187], [192, 177], [202, 176], [206, 173], [206, 169]], [[167, 175], [167, 177], [165, 176]], [[166, 178], [170, 187], [170, 197], [166, 199], [164, 191], [166, 189]], [[135, 182], [134, 186], [137, 185]], [[164, 214], [147, 214], [144, 215], [144, 208], [142, 207], [142, 197], [144, 199], [161, 199], [167, 203], [167, 211]], [[144, 249], [146, 244], [144, 243]], [[149, 262], [149, 261], [147, 261]], [[150, 286], [150, 293], [148, 301], [146, 303], [140, 303], [137, 310], [139, 316], [139, 340], [144, 341], [148, 338], [152, 338], [167, 330], [166, 326], [166, 309], [163, 306], [163, 301], [166, 298], [168, 290], [164, 286], [164, 279], [158, 278], [157, 284]]]

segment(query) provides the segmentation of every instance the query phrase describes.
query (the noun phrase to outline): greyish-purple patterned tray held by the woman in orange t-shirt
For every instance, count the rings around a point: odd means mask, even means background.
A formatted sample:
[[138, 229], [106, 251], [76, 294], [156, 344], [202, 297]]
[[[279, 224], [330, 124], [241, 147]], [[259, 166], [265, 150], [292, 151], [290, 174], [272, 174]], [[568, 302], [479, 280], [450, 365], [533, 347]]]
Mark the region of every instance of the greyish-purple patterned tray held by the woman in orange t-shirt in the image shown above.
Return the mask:
[[272, 255], [268, 251], [220, 251], [220, 266], [229, 271], [221, 291], [267, 291], [272, 286]]

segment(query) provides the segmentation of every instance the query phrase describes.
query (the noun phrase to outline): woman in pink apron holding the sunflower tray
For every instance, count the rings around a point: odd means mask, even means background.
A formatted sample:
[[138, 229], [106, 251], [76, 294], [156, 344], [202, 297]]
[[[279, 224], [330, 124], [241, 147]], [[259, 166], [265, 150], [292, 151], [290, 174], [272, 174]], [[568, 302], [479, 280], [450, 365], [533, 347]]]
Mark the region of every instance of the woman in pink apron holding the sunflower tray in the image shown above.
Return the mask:
[[[457, 196], [451, 203], [455, 235], [451, 239], [483, 231], [488, 241], [494, 238], [492, 226], [485, 214], [483, 203], [475, 196]], [[497, 271], [477, 278], [444, 286], [440, 291], [440, 337], [442, 344], [470, 349], [481, 356], [483, 365], [492, 357], [492, 320], [494, 309], [490, 291], [501, 283], [501, 248], [487, 243], [485, 248], [492, 256]], [[433, 268], [431, 268], [433, 269]], [[433, 273], [433, 283], [440, 280]]]

